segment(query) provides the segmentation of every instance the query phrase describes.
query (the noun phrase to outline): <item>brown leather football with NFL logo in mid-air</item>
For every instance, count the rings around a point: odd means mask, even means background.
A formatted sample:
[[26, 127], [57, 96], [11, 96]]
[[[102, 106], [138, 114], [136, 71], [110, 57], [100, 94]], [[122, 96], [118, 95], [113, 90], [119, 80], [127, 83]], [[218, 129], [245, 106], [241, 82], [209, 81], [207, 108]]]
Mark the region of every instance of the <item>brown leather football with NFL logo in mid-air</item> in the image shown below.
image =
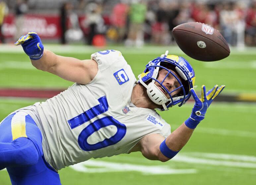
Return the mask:
[[230, 54], [228, 44], [221, 33], [207, 24], [180, 24], [173, 28], [172, 35], [179, 48], [196, 60], [216, 61]]

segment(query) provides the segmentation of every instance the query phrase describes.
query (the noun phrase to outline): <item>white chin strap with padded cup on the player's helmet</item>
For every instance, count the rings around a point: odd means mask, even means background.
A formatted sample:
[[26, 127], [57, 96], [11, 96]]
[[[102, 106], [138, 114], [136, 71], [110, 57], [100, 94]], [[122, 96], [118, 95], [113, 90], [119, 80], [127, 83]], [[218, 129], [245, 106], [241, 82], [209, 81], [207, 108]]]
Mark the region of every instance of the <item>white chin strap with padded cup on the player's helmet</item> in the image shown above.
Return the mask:
[[156, 86], [155, 80], [149, 83], [149, 85], [145, 84], [141, 77], [139, 77], [140, 83], [147, 89], [147, 93], [149, 98], [156, 104], [162, 105], [164, 110], [168, 110], [165, 103], [171, 101], [168, 99], [165, 94]]

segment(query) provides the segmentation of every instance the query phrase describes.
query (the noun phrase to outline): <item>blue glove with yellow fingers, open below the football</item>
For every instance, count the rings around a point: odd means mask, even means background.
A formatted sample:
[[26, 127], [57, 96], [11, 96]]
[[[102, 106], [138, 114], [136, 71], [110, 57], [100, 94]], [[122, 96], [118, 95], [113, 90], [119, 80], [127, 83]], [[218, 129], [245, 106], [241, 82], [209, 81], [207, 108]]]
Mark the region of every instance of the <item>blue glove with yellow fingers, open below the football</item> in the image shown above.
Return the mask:
[[190, 129], [195, 129], [196, 126], [205, 118], [205, 113], [212, 101], [218, 96], [225, 88], [224, 85], [218, 87], [215, 85], [214, 88], [206, 93], [205, 85], [202, 86], [201, 98], [196, 95], [193, 88], [190, 89], [191, 94], [195, 100], [194, 107], [190, 117], [185, 121], [185, 125]]

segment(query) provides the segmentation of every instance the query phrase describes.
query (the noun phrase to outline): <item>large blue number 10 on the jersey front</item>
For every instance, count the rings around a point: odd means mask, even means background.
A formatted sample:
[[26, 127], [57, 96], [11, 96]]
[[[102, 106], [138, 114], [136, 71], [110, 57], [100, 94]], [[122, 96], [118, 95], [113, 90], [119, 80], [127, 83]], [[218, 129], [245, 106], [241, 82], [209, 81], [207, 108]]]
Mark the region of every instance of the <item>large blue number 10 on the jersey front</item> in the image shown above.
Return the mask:
[[[71, 129], [74, 129], [91, 119], [95, 118], [97, 115], [100, 115], [108, 110], [108, 103], [106, 96], [102, 96], [98, 99], [99, 104], [85, 111], [84, 113], [68, 120]], [[116, 133], [110, 138], [104, 139], [95, 144], [89, 144], [87, 139], [94, 132], [98, 131], [101, 128], [114, 125], [117, 128]], [[126, 134], [126, 126], [112, 116], [105, 116], [103, 118], [97, 119], [93, 123], [89, 124], [85, 129], [81, 131], [78, 136], [78, 144], [82, 150], [92, 151], [100, 148], [104, 148], [110, 145], [118, 143]]]

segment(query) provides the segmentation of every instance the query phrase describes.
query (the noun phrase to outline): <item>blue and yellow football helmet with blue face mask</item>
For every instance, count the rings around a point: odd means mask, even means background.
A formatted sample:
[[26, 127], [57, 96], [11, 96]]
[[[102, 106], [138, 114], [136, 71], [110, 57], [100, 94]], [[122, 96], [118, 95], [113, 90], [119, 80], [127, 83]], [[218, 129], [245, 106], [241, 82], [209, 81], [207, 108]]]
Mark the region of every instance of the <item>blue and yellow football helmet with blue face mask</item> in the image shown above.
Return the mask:
[[[167, 71], [167, 75], [162, 82], [157, 80], [160, 70]], [[179, 80], [171, 70], [174, 71], [181, 80]], [[164, 80], [169, 74], [173, 75], [180, 84], [179, 87], [170, 92], [163, 85]], [[164, 111], [178, 103], [180, 103], [178, 105], [180, 107], [190, 98], [190, 89], [193, 88], [195, 82], [195, 72], [185, 58], [177, 55], [168, 55], [168, 51], [166, 51], [164, 55], [150, 61], [146, 65], [146, 69], [138, 76], [138, 78], [138, 83], [142, 84], [147, 89], [149, 98], [154, 103], [162, 105], [160, 110]], [[166, 95], [157, 87], [155, 82], [159, 83], [165, 92], [169, 94], [169, 98], [167, 98]], [[179, 94], [171, 95], [172, 92], [178, 89], [181, 89]]]

